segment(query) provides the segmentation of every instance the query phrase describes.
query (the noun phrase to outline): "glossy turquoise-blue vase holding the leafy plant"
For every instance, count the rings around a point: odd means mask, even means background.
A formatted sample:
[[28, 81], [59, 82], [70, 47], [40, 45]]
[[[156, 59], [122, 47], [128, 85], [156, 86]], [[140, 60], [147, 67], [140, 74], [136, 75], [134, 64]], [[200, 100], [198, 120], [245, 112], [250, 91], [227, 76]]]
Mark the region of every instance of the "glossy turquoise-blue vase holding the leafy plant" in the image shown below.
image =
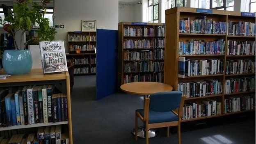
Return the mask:
[[32, 68], [30, 50], [5, 50], [2, 64], [10, 75], [28, 73]]

